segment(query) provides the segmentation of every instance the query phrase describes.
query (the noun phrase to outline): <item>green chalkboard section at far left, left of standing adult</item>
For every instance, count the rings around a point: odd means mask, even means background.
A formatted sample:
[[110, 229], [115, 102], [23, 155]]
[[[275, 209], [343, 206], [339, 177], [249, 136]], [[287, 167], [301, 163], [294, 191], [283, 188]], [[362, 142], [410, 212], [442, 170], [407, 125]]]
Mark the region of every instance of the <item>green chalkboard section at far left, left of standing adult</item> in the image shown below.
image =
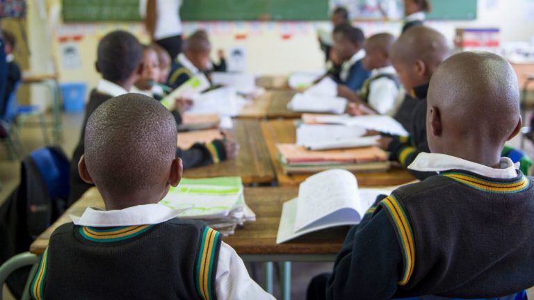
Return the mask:
[[63, 0], [63, 22], [139, 22], [139, 0]]

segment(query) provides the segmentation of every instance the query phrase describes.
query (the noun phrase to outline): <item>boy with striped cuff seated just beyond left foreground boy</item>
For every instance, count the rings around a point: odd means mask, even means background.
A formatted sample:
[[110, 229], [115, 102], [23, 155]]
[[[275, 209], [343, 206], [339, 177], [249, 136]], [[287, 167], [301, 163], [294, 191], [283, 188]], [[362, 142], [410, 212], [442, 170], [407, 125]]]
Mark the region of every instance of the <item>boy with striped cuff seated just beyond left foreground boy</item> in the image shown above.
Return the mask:
[[[97, 72], [102, 74], [102, 79], [97, 88], [90, 93], [83, 119], [81, 138], [72, 155], [69, 205], [92, 187], [81, 179], [77, 168], [84, 153], [83, 136], [87, 120], [102, 103], [131, 90], [133, 83], [143, 72], [142, 56], [143, 48], [138, 40], [126, 31], [108, 33], [98, 44], [96, 68]], [[209, 144], [195, 144], [188, 150], [176, 149], [176, 155], [185, 161], [185, 169], [232, 159], [237, 153], [238, 145], [229, 139], [214, 140]]]

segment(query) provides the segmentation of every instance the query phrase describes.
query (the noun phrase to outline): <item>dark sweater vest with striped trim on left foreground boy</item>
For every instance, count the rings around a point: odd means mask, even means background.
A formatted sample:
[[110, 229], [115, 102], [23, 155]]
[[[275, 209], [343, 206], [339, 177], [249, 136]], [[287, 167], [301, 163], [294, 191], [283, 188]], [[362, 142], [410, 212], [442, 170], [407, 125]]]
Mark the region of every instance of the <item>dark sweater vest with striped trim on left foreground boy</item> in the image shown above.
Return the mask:
[[60, 226], [31, 285], [33, 299], [216, 299], [220, 235], [202, 222]]

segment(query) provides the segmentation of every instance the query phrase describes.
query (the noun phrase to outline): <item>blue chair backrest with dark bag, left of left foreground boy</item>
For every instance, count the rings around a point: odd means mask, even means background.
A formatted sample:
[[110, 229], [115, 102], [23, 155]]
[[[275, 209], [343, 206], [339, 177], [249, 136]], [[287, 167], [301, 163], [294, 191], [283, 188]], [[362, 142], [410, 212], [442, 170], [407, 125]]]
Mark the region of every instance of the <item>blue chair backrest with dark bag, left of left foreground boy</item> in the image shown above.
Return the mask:
[[59, 148], [46, 147], [30, 153], [37, 165], [44, 184], [52, 199], [67, 199], [69, 196], [70, 163]]

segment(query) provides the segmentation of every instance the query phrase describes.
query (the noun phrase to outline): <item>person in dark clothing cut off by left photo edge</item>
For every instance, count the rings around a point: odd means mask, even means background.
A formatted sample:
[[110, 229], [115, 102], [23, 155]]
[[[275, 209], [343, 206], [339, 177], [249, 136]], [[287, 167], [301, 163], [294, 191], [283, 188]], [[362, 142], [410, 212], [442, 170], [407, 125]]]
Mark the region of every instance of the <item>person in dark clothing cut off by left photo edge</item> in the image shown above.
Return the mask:
[[8, 99], [9, 97], [11, 97], [11, 94], [13, 94], [15, 88], [20, 83], [20, 80], [22, 78], [20, 67], [17, 62], [15, 62], [15, 56], [13, 55], [13, 53], [15, 53], [17, 39], [15, 39], [15, 35], [13, 35], [13, 33], [10, 33], [8, 31], [4, 30], [2, 31], [2, 34], [3, 49], [4, 51], [6, 51], [7, 81], [5, 94], [3, 94], [3, 99], [0, 103], [0, 118], [6, 114]]

